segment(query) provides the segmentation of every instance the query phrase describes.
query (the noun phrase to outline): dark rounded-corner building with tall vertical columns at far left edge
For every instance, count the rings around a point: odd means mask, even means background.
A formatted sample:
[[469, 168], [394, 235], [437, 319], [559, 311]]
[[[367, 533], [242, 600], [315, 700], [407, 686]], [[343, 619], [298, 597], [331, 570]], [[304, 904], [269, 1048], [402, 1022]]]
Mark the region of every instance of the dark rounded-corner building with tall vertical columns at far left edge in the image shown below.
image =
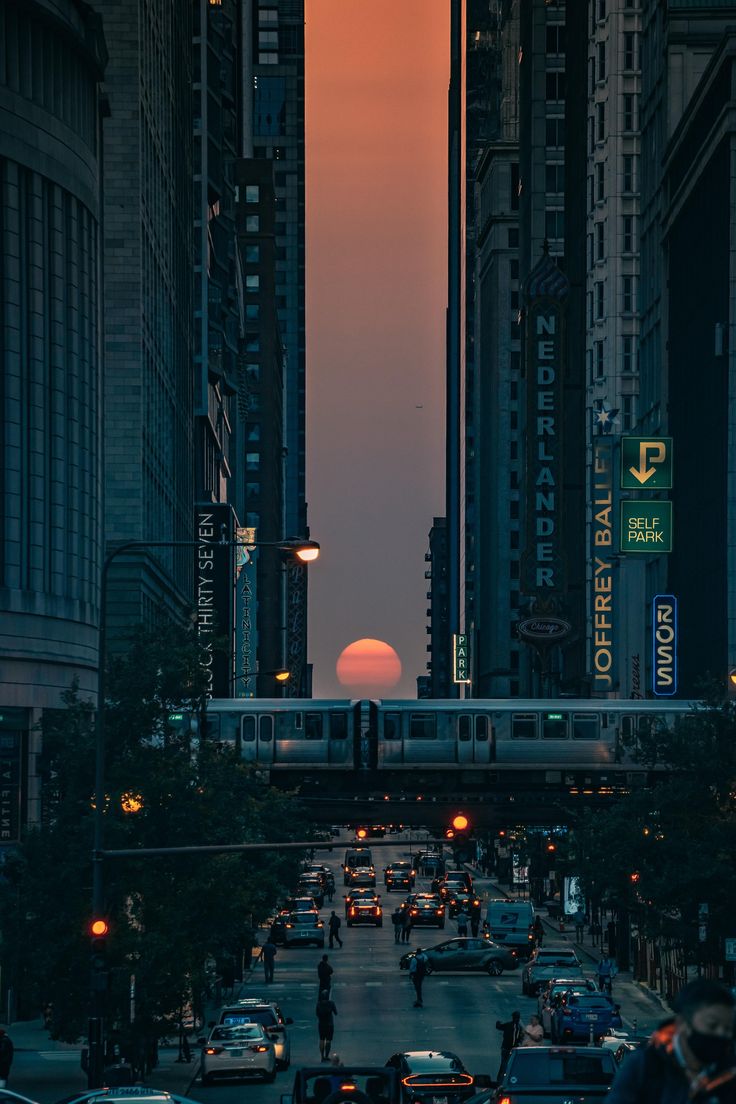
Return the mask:
[[0, 3], [0, 819], [40, 816], [38, 722], [97, 688], [106, 46], [72, 0]]

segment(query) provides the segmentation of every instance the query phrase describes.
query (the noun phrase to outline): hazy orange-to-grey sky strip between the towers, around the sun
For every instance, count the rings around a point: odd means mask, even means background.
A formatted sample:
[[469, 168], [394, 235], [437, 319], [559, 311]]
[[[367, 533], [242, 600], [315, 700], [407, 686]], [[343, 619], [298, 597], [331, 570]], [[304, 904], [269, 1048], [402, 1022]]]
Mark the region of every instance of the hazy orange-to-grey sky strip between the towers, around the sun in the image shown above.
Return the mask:
[[416, 697], [445, 507], [448, 0], [307, 0], [307, 497], [314, 697], [361, 637]]

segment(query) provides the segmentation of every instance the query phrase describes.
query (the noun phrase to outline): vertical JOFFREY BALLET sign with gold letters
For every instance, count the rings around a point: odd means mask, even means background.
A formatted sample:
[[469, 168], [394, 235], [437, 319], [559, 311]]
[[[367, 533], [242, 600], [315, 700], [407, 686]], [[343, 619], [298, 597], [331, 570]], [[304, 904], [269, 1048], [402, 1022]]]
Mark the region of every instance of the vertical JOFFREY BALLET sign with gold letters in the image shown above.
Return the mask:
[[614, 686], [614, 443], [593, 440], [589, 611], [594, 693]]

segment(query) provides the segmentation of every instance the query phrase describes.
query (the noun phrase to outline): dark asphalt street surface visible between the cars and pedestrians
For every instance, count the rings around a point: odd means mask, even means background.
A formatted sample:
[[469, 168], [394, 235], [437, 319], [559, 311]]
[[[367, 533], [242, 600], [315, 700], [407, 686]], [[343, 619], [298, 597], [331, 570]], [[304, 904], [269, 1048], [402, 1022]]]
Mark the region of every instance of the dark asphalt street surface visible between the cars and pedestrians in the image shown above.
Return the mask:
[[[335, 878], [334, 901], [332, 905], [326, 903], [322, 910], [326, 930], [331, 907], [342, 917], [340, 934], [343, 947], [330, 951], [326, 945], [324, 949], [334, 969], [332, 998], [338, 1008], [338, 1017], [333, 1052], [340, 1055], [344, 1064], [367, 1062], [382, 1065], [396, 1051], [447, 1049], [455, 1051], [471, 1073], [495, 1076], [500, 1061], [500, 1032], [495, 1029], [495, 1021], [508, 1020], [514, 1009], [519, 1009], [522, 1022], [526, 1022], [529, 1016], [536, 1010], [536, 1000], [521, 995], [519, 969], [498, 978], [484, 974], [433, 974], [424, 983], [424, 1008], [413, 1007], [414, 988], [408, 974], [398, 969], [398, 959], [407, 946], [394, 942], [390, 919], [393, 903], [401, 900], [401, 895], [387, 893], [382, 878], [384, 866], [407, 857], [408, 847], [401, 840], [397, 840], [396, 847], [374, 851], [377, 891], [385, 910], [384, 926], [381, 928], [346, 927], [342, 900], [345, 890], [340, 867], [341, 849], [335, 847], [327, 859], [318, 857], [319, 861], [324, 861], [332, 868]], [[416, 888], [429, 889], [428, 880], [417, 879]], [[481, 898], [488, 898], [489, 893], [497, 895], [491, 884], [483, 879], [476, 880], [476, 890]], [[434, 946], [456, 934], [456, 924], [448, 919], [441, 931], [415, 931], [408, 949]], [[555, 933], [550, 925], [545, 947], [555, 945], [570, 946], [572, 938]], [[291, 1070], [279, 1073], [273, 1084], [237, 1081], [204, 1086], [196, 1076], [196, 1062], [188, 1066], [175, 1065], [173, 1062], [162, 1063], [150, 1076], [149, 1083], [184, 1092], [203, 1104], [215, 1101], [217, 1104], [242, 1104], [244, 1092], [254, 1104], [278, 1104], [280, 1095], [290, 1091], [294, 1069], [320, 1062], [314, 1006], [318, 992], [317, 964], [321, 955], [322, 952], [314, 947], [279, 947], [273, 985], [265, 985], [262, 967], [256, 966], [243, 986], [242, 996], [268, 994], [280, 1005], [285, 1016], [294, 1019], [294, 1025], [289, 1028]], [[582, 957], [584, 960], [587, 957], [593, 974], [593, 955], [586, 956], [583, 952]], [[662, 1018], [662, 1010], [651, 995], [626, 978], [617, 978], [615, 996], [621, 1005], [625, 1027], [630, 1030], [636, 1027], [639, 1033], [648, 1032]], [[39, 1062], [44, 1066], [43, 1080], [46, 1084], [43, 1086], [39, 1084], [42, 1072], [39, 1070]], [[78, 1065], [75, 1068], [73, 1063], [72, 1053], [41, 1050], [35, 1054], [32, 1051], [19, 1053], [9, 1087], [20, 1093], [28, 1092], [44, 1102], [58, 1100], [79, 1084]], [[52, 1081], [60, 1091], [52, 1091]]]

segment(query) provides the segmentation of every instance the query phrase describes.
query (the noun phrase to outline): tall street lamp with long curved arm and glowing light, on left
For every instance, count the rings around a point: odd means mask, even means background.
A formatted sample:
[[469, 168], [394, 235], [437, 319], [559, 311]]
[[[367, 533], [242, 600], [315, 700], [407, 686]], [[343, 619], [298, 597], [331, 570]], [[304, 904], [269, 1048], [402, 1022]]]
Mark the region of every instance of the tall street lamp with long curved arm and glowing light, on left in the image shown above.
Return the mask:
[[[311, 563], [320, 554], [320, 545], [317, 541], [301, 540], [298, 537], [288, 537], [281, 541], [232, 541], [227, 539], [225, 528], [218, 541], [125, 541], [116, 548], [110, 549], [103, 561], [99, 576], [99, 629], [98, 641], [98, 676], [97, 676], [97, 712], [95, 716], [95, 816], [94, 816], [94, 847], [92, 860], [92, 914], [102, 916], [105, 907], [105, 891], [103, 882], [103, 842], [105, 829], [105, 694], [106, 694], [106, 671], [105, 656], [107, 654], [107, 583], [110, 567], [118, 556], [127, 552], [148, 551], [151, 549], [196, 549], [203, 545], [212, 548], [274, 548], [288, 555], [295, 556], [300, 563]], [[288, 671], [276, 676], [279, 681], [285, 681], [284, 675], [288, 678]], [[280, 677], [279, 677], [280, 676]], [[105, 986], [100, 984], [99, 977], [95, 977], [94, 970], [90, 978], [90, 1011], [88, 1023], [88, 1055], [89, 1064], [87, 1071], [87, 1085], [89, 1089], [99, 1089], [103, 1084], [104, 1072], [104, 1033], [105, 1033]]]

